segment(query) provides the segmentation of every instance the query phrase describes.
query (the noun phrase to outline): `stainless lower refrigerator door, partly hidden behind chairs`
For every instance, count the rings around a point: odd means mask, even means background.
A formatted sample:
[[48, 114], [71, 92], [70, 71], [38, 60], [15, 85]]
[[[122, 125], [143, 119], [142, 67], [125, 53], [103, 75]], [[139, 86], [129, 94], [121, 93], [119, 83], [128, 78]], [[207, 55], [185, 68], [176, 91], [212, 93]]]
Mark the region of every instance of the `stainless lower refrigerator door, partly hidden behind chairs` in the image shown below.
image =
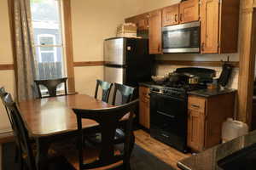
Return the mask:
[[[126, 72], [125, 68], [104, 66], [104, 81], [125, 84], [125, 77], [126, 77], [125, 72]], [[115, 104], [120, 105], [121, 101], [122, 101], [122, 96], [121, 94], [117, 93]], [[112, 104], [112, 102], [113, 102], [113, 89], [110, 91], [109, 99], [108, 99], [109, 104]]]

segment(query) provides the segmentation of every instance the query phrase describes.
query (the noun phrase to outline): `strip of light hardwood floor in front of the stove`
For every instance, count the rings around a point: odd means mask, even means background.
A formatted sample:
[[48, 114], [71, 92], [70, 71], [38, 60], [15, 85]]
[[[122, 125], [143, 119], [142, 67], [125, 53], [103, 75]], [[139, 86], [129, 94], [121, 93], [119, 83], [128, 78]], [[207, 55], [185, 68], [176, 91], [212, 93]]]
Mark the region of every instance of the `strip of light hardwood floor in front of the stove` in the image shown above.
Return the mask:
[[166, 162], [176, 169], [179, 169], [177, 167], [177, 161], [191, 156], [191, 154], [183, 154], [182, 152], [173, 149], [171, 146], [151, 138], [150, 135], [143, 130], [135, 131], [135, 142], [144, 150], [147, 150], [161, 161]]

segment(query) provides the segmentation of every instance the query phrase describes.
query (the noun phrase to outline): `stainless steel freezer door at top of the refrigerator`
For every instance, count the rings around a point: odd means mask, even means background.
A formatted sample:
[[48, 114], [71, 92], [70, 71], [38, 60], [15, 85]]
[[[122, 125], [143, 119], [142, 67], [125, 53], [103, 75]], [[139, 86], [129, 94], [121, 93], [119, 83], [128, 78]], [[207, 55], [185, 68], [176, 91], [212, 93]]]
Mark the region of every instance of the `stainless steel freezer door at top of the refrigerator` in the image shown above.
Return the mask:
[[113, 38], [104, 41], [104, 61], [108, 65], [125, 65], [126, 39]]

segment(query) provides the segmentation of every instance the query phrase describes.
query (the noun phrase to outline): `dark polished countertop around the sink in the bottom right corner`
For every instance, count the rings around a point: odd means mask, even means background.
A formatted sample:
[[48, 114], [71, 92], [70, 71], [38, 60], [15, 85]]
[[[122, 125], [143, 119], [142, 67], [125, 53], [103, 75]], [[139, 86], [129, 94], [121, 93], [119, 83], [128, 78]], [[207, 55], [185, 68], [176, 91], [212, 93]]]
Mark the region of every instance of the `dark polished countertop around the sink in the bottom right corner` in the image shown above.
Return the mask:
[[230, 156], [238, 150], [242, 150], [256, 144], [256, 131], [248, 133], [225, 144], [218, 144], [212, 149], [205, 150], [197, 155], [178, 161], [178, 167], [183, 170], [222, 170], [218, 167], [218, 161]]

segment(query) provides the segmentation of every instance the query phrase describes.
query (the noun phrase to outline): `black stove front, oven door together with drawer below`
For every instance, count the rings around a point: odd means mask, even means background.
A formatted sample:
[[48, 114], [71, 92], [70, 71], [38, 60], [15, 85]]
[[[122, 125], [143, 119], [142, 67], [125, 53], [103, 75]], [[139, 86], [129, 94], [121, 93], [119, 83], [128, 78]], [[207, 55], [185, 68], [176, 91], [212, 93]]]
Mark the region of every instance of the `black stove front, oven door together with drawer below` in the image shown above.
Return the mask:
[[150, 135], [187, 152], [187, 99], [151, 92]]

